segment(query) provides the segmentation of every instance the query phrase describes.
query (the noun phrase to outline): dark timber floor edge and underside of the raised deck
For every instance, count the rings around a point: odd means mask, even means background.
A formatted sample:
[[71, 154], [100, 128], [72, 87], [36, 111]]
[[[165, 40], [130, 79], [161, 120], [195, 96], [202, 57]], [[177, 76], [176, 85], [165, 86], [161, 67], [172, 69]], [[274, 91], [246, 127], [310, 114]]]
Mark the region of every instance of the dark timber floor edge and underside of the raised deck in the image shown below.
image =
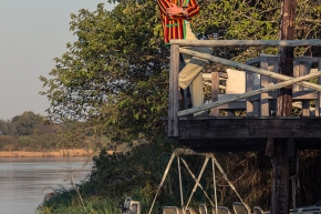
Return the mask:
[[180, 118], [174, 139], [195, 152], [266, 151], [275, 139], [321, 150], [321, 118]]

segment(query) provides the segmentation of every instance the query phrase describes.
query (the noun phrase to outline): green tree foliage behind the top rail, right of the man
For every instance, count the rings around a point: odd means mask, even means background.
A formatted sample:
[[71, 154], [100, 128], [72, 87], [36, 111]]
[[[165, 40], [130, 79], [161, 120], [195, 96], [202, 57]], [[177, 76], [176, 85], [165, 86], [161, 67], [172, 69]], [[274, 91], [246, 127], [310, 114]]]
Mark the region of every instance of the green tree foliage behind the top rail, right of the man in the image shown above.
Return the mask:
[[[278, 40], [281, 3], [278, 0], [201, 0], [198, 32], [205, 39]], [[320, 0], [298, 0], [294, 39], [320, 39]], [[235, 51], [237, 50], [237, 51]], [[217, 49], [215, 55], [246, 61], [277, 48]], [[298, 55], [320, 55], [320, 48], [296, 48]]]

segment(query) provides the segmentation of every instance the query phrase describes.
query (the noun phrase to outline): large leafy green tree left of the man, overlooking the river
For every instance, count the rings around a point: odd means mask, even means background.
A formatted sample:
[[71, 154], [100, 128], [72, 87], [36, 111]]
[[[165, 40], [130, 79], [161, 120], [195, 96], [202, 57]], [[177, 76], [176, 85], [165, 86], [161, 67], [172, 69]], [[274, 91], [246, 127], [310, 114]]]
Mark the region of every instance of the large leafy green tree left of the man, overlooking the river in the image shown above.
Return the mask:
[[[118, 4], [112, 12], [72, 14], [79, 37], [55, 59], [52, 79], [41, 77], [50, 119], [85, 121], [114, 139], [152, 134], [165, 115], [168, 50], [162, 45], [155, 3]], [[157, 34], [157, 37], [155, 37]], [[157, 130], [158, 132], [158, 130]]]

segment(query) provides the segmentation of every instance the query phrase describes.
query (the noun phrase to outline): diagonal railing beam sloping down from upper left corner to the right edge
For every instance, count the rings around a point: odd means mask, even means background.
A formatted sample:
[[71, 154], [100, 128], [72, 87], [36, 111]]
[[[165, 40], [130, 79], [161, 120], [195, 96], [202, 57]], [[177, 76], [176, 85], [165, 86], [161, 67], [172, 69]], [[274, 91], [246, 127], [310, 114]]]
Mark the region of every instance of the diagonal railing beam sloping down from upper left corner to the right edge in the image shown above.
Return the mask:
[[[282, 81], [292, 80], [293, 79], [291, 77], [282, 75], [282, 74], [279, 74], [279, 73], [275, 73], [275, 72], [271, 72], [271, 71], [267, 71], [267, 70], [263, 70], [263, 69], [251, 67], [251, 65], [248, 65], [248, 64], [242, 64], [242, 63], [239, 63], [239, 62], [234, 62], [231, 60], [226, 60], [226, 59], [222, 59], [222, 58], [214, 57], [214, 55], [210, 55], [208, 53], [199, 53], [197, 51], [191, 51], [191, 50], [182, 49], [182, 48], [179, 49], [179, 52], [186, 53], [186, 54], [189, 54], [189, 55], [193, 55], [193, 57], [197, 57], [197, 58], [203, 58], [203, 59], [206, 59], [206, 60], [209, 60], [209, 61], [213, 61], [213, 62], [217, 62], [217, 63], [220, 63], [220, 64], [234, 67], [234, 68], [237, 68], [237, 69], [240, 69], [240, 70], [244, 70], [244, 71], [250, 71], [250, 72], [253, 72], [253, 73], [268, 75], [270, 78], [275, 78], [275, 79], [282, 80]], [[311, 82], [300, 82], [298, 84], [307, 86], [307, 88], [310, 88], [310, 89], [313, 89], [313, 90], [317, 90], [317, 91], [321, 91], [321, 85], [319, 85], [319, 84], [313, 84]]]

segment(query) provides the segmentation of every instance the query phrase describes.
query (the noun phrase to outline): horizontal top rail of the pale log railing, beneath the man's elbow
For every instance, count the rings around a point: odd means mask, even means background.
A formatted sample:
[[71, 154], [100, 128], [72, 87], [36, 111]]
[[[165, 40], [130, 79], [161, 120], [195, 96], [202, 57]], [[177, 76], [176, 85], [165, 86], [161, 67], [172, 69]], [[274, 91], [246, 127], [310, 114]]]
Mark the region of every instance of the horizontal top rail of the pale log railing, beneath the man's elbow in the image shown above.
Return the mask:
[[321, 40], [170, 40], [182, 47], [310, 47], [321, 45]]

